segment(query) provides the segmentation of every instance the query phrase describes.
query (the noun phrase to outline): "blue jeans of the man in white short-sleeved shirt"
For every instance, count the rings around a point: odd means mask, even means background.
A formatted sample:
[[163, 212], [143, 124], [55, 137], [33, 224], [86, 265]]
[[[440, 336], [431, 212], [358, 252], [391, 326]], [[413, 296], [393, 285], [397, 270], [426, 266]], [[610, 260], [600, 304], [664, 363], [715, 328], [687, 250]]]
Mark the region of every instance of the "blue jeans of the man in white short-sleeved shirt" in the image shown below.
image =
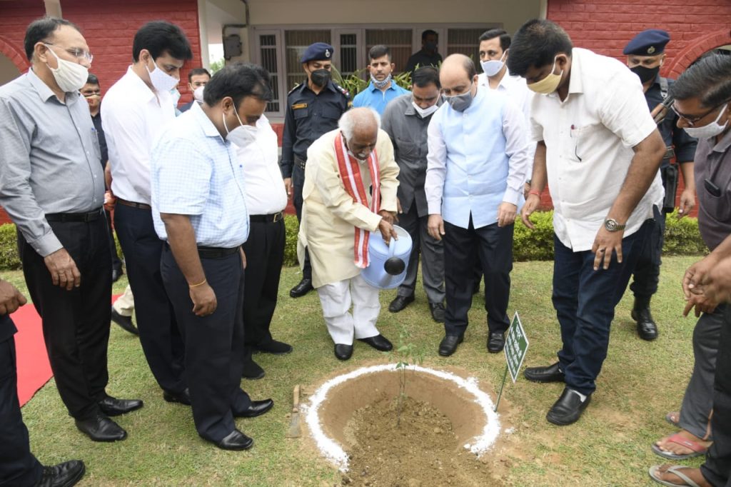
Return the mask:
[[591, 250], [573, 252], [553, 235], [553, 307], [561, 325], [564, 347], [558, 352], [566, 385], [582, 394], [596, 389], [594, 381], [607, 357], [614, 308], [622, 298], [652, 220], [622, 240], [622, 262], [594, 271]]

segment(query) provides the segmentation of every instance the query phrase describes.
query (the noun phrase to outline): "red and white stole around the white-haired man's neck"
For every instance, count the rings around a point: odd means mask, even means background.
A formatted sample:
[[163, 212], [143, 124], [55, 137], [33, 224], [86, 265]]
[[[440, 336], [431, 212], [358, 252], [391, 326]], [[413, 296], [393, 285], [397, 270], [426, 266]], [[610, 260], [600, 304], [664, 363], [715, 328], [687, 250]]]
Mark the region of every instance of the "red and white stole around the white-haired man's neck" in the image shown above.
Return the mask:
[[[355, 203], [368, 206], [368, 195], [366, 187], [363, 185], [363, 178], [360, 175], [360, 165], [355, 157], [348, 154], [345, 139], [341, 132], [335, 137], [335, 155], [338, 159], [338, 171], [343, 186], [345, 186], [345, 191], [353, 198]], [[371, 184], [373, 184], [373, 195], [369, 208], [374, 213], [378, 213], [381, 206], [381, 170], [375, 150], [368, 154], [368, 170], [371, 173]], [[371, 233], [368, 230], [355, 227], [355, 256], [353, 262], [361, 269], [368, 267], [368, 237], [370, 235]]]

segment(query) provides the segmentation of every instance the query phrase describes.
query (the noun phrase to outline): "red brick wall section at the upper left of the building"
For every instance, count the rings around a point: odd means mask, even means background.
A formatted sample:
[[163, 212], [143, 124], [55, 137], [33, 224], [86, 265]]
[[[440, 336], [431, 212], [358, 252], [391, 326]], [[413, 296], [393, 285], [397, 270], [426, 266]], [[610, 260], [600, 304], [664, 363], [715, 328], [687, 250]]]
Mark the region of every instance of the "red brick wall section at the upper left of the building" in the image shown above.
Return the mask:
[[[91, 72], [99, 77], [102, 93], [126, 72], [132, 63], [132, 39], [135, 32], [150, 20], [168, 20], [185, 31], [194, 58], [186, 62], [178, 89], [181, 102], [191, 99], [188, 93], [188, 70], [201, 66], [198, 7], [196, 0], [63, 0], [64, 18], [76, 23], [94, 54]], [[45, 15], [41, 0], [0, 1], [0, 53], [9, 57], [18, 72], [29, 66], [23, 50], [26, 27]], [[0, 209], [0, 224], [9, 220]]]

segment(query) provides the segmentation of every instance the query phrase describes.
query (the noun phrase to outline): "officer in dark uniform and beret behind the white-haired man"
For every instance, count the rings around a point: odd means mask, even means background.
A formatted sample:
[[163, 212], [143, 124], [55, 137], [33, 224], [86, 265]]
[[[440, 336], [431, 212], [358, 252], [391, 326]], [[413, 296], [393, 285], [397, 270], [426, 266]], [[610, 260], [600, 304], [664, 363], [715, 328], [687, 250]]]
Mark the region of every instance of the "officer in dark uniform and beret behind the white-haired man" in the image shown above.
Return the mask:
[[[348, 109], [349, 94], [330, 80], [333, 46], [315, 42], [302, 55], [302, 67], [307, 80], [287, 96], [284, 118], [284, 140], [281, 147], [281, 175], [287, 195], [294, 189], [297, 218], [302, 218], [302, 187], [305, 184], [307, 149], [320, 135], [338, 128], [338, 119]], [[305, 254], [302, 280], [289, 295], [299, 298], [312, 290], [312, 268]]]

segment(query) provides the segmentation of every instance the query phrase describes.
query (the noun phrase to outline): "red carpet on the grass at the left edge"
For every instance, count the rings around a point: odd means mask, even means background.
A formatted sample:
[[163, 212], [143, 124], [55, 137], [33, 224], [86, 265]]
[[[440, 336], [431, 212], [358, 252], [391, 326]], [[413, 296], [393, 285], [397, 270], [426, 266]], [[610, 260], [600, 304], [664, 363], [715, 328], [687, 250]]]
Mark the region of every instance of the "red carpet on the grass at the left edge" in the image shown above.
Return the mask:
[[41, 317], [33, 304], [21, 306], [12, 314], [18, 333], [15, 333], [15, 351], [18, 357], [18, 399], [26, 404], [37, 390], [53, 377], [48, 353], [43, 342]]

